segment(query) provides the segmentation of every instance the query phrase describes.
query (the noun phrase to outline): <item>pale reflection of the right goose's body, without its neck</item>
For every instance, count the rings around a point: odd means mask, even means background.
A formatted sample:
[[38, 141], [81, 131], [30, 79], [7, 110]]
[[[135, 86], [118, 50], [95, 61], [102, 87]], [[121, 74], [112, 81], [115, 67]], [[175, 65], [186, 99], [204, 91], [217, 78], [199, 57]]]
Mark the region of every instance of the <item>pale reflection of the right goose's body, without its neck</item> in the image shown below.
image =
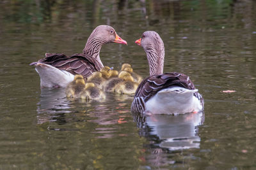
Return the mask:
[[[170, 151], [200, 147], [198, 126], [204, 123], [204, 113], [184, 115], [134, 115], [140, 135], [154, 141], [154, 146]], [[157, 137], [157, 139], [156, 139]]]

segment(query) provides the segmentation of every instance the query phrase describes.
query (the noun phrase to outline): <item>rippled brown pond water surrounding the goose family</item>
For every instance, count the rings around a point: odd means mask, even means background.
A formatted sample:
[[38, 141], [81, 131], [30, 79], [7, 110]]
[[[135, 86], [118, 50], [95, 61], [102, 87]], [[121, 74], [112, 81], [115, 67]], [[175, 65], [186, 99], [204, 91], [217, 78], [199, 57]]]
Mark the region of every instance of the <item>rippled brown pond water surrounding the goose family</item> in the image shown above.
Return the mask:
[[[255, 1], [13, 0], [0, 9], [0, 169], [256, 169]], [[85, 103], [40, 89], [29, 63], [81, 52], [100, 24], [128, 42], [104, 46], [102, 62], [129, 62], [143, 76], [134, 41], [157, 31], [164, 71], [190, 76], [205, 114], [140, 118], [132, 96]]]

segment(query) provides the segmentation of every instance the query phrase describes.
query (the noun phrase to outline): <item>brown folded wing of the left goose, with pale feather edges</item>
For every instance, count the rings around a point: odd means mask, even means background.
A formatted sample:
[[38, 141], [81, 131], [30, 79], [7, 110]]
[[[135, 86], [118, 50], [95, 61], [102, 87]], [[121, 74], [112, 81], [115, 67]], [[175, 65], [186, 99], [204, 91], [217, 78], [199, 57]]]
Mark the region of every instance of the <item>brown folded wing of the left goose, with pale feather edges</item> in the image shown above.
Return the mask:
[[83, 53], [76, 53], [71, 56], [63, 53], [46, 53], [45, 58], [32, 62], [33, 66], [38, 63], [49, 64], [71, 74], [81, 74], [84, 77], [90, 76], [94, 71], [100, 71], [101, 65], [94, 58]]

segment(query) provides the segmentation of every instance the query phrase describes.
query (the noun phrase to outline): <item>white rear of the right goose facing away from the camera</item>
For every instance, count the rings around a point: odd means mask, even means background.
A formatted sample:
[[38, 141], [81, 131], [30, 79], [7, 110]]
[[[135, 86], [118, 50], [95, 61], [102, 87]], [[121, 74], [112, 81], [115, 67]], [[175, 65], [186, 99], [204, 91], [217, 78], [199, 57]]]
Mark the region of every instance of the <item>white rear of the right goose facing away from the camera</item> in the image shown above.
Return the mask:
[[146, 103], [145, 113], [183, 114], [202, 110], [200, 101], [193, 96], [198, 90], [171, 87], [160, 90]]

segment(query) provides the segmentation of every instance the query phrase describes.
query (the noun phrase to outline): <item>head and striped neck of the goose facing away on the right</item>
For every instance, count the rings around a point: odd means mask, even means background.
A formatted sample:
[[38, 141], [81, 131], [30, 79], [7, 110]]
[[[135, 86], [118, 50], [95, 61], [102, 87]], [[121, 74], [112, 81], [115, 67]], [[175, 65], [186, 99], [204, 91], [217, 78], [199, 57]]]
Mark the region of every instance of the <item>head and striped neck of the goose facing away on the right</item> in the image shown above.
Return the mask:
[[159, 34], [155, 31], [145, 31], [135, 43], [142, 46], [147, 53], [150, 76], [163, 74], [164, 43]]

